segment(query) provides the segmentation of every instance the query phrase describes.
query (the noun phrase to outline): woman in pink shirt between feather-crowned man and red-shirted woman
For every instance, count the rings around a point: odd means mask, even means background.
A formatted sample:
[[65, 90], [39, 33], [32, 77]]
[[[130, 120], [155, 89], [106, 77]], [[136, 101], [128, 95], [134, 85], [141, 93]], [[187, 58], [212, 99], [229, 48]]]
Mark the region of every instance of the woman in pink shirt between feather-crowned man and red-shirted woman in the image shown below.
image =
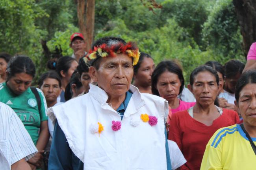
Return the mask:
[[[171, 113], [187, 110], [195, 105], [195, 102], [184, 102], [178, 99], [178, 95], [184, 88], [184, 77], [181, 67], [173, 61], [162, 61], [152, 73], [152, 94], [163, 97], [169, 102]], [[168, 121], [167, 121], [168, 124]]]

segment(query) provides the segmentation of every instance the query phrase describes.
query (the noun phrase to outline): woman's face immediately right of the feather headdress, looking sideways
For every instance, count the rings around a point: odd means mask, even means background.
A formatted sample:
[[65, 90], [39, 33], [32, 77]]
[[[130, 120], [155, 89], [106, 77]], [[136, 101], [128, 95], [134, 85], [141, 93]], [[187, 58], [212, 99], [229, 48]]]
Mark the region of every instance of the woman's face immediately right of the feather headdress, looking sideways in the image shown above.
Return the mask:
[[152, 58], [145, 57], [136, 74], [134, 79], [140, 86], [151, 86], [151, 75], [155, 69], [155, 64]]

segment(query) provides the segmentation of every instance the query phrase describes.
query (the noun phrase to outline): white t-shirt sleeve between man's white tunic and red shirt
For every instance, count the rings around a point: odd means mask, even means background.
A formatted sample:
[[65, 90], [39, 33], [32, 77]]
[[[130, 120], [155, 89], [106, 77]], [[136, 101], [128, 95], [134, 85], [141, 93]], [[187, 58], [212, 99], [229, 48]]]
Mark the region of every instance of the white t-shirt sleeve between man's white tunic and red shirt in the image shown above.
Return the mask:
[[184, 165], [187, 161], [184, 158], [182, 152], [180, 151], [180, 148], [174, 141], [168, 140], [168, 146], [171, 157], [172, 169], [175, 170], [180, 166]]

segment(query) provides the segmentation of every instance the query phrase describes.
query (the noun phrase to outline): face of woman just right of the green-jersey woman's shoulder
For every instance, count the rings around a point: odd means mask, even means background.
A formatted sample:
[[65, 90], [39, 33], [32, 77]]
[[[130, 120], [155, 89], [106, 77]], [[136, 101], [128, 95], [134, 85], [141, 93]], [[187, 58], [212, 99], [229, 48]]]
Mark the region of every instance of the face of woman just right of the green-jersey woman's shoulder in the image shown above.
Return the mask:
[[43, 91], [45, 95], [46, 102], [57, 102], [57, 97], [60, 94], [59, 82], [56, 79], [46, 78], [43, 81], [40, 89]]

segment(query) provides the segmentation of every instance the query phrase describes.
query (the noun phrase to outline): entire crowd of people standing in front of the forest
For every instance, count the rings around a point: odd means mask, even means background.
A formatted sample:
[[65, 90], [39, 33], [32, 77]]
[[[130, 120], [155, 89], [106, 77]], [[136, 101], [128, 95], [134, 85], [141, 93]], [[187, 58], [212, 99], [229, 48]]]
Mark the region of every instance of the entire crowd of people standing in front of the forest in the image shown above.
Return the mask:
[[[104, 37], [47, 63], [0, 53], [3, 170], [256, 170], [256, 43], [185, 82], [134, 42]], [[186, 84], [188, 84], [186, 86]]]

